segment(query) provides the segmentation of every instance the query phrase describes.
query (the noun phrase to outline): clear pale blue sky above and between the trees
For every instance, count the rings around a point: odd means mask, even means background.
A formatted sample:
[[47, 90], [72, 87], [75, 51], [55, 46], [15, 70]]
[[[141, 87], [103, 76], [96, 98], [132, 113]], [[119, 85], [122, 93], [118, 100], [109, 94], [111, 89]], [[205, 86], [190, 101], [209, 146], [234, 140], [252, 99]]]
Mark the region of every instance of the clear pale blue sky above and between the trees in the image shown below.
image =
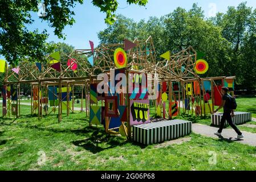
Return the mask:
[[[30, 25], [29, 30], [35, 30], [39, 28], [42, 31], [46, 28], [49, 38], [48, 41], [54, 42], [64, 42], [74, 46], [77, 49], [90, 48], [89, 40], [93, 41], [95, 46], [99, 44], [99, 39], [97, 38], [97, 32], [104, 30], [107, 25], [104, 22], [105, 13], [100, 12], [100, 9], [93, 6], [92, 0], [84, 0], [84, 4], [77, 4], [75, 12], [76, 22], [72, 27], [67, 26], [64, 28], [64, 34], [66, 34], [66, 40], [58, 39], [54, 35], [54, 28], [48, 27], [47, 22], [41, 22], [39, 20], [37, 13], [32, 13], [32, 18], [35, 22]], [[205, 16], [214, 16], [217, 12], [225, 13], [228, 6], [237, 7], [239, 3], [244, 1], [239, 0], [148, 0], [148, 4], [144, 6], [139, 5], [127, 5], [125, 0], [117, 0], [119, 2], [119, 7], [116, 14], [122, 14], [129, 18], [132, 18], [136, 22], [141, 19], [148, 20], [149, 16], [160, 17], [162, 15], [169, 14], [177, 7], [182, 7], [186, 10], [191, 9], [193, 3], [198, 3], [198, 6], [202, 7], [205, 12]], [[247, 6], [256, 9], [255, 0], [247, 0]]]

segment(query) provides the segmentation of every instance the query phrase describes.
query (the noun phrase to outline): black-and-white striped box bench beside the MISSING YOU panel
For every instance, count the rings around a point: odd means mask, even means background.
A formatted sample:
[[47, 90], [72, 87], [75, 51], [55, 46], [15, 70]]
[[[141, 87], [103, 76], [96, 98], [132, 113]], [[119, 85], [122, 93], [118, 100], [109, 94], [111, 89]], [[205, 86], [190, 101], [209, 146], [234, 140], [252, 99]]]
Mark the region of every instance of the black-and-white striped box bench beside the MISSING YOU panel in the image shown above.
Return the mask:
[[192, 122], [180, 119], [134, 125], [133, 140], [143, 144], [164, 142], [165, 140], [184, 137], [192, 132]]

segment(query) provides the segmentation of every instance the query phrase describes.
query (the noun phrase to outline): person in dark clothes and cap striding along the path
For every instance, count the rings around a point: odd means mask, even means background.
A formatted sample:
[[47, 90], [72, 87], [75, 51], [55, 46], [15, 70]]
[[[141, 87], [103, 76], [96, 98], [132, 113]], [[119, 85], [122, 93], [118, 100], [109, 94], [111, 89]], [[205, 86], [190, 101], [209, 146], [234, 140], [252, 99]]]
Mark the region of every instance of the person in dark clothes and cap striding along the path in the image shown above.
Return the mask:
[[227, 91], [229, 91], [228, 88], [226, 88], [226, 87], [221, 88], [221, 94], [222, 94], [221, 105], [218, 107], [218, 109], [214, 110], [214, 113], [216, 113], [218, 110], [220, 110], [222, 107], [224, 107], [224, 113], [221, 118], [220, 129], [217, 132], [215, 132], [214, 134], [221, 137], [221, 132], [224, 129], [225, 121], [227, 121], [229, 123], [229, 125], [237, 133], [237, 137], [235, 137], [235, 139], [241, 139], [241, 138], [243, 138], [243, 134], [241, 133], [241, 131], [239, 131], [237, 126], [235, 126], [235, 124], [233, 123], [232, 118], [231, 118], [231, 116], [234, 117], [234, 111], [233, 111], [233, 109], [231, 109], [231, 106], [230, 106], [231, 105], [231, 100], [230, 100], [231, 96], [229, 96], [229, 94], [227, 94]]

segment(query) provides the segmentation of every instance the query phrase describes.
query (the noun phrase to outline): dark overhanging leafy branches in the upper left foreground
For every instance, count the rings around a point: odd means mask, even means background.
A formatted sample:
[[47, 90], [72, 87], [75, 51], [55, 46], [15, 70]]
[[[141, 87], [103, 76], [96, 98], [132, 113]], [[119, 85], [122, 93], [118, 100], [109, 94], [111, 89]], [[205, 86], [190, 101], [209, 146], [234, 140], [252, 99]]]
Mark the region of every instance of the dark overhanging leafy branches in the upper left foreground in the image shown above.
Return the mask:
[[[148, 0], [127, 0], [140, 6], [145, 6]], [[46, 30], [29, 31], [26, 26], [34, 22], [31, 12], [38, 12], [40, 1], [0, 1], [0, 54], [5, 56], [11, 65], [18, 65], [19, 61], [25, 57], [31, 57], [30, 61], [46, 61], [44, 55], [51, 53], [55, 47], [47, 44], [48, 34]], [[48, 22], [50, 27], [54, 27], [54, 33], [58, 38], [65, 38], [62, 31], [65, 26], [74, 24], [75, 15], [71, 9], [76, 3], [83, 3], [83, 0], [45, 0], [42, 4], [45, 11], [40, 15], [42, 21]], [[112, 24], [115, 22], [115, 11], [118, 3], [116, 0], [93, 0], [93, 5], [106, 13], [105, 22]]]

